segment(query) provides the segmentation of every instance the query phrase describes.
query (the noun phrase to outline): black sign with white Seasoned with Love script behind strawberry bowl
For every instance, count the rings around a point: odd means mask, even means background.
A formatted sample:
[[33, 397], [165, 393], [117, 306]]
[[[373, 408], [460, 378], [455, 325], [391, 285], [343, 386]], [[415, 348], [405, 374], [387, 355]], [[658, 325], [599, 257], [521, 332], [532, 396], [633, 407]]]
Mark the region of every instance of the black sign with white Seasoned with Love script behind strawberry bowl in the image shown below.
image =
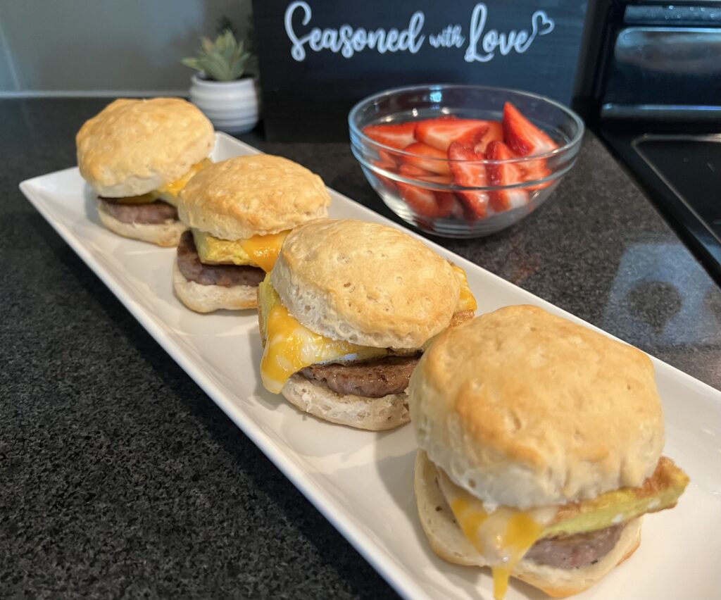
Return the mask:
[[474, 83], [570, 103], [585, 0], [255, 0], [265, 132], [348, 138], [350, 107], [389, 87]]

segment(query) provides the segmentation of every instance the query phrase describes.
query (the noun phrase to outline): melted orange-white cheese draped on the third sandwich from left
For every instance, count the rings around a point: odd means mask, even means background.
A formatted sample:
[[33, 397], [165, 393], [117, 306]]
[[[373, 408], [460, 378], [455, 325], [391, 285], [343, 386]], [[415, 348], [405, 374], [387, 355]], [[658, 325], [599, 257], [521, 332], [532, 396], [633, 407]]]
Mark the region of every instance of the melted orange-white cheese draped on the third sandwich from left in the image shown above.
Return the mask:
[[301, 325], [283, 304], [270, 284], [270, 276], [258, 286], [258, 318], [265, 340], [260, 378], [268, 392], [280, 394], [291, 375], [315, 363], [363, 361], [385, 356], [386, 348], [370, 348], [332, 340]]

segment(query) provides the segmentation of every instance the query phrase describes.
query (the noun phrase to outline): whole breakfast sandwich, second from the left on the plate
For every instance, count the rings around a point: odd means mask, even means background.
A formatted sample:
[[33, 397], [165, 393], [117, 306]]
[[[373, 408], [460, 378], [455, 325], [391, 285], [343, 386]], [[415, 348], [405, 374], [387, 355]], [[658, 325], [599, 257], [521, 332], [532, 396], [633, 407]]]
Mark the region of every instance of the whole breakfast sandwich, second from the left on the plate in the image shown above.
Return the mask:
[[180, 220], [190, 231], [178, 245], [175, 293], [196, 312], [255, 308], [288, 230], [326, 216], [329, 204], [318, 175], [280, 156], [211, 164], [180, 195]]

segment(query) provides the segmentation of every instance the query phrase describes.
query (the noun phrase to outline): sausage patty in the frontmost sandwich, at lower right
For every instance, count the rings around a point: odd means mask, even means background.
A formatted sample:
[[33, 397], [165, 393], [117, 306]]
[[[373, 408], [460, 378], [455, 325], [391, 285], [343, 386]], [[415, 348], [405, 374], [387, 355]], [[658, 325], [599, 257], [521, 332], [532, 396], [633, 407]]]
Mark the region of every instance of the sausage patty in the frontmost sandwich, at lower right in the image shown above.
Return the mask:
[[592, 565], [618, 543], [625, 525], [614, 525], [590, 533], [539, 539], [523, 560], [539, 565], [574, 569]]

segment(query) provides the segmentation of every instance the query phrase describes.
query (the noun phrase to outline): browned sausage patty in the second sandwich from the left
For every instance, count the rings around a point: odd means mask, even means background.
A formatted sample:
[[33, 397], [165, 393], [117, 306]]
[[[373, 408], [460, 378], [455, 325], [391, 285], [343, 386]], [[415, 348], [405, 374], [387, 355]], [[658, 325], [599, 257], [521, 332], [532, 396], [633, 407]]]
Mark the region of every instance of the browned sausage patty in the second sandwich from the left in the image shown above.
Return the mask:
[[192, 231], [185, 231], [178, 244], [178, 269], [188, 281], [202, 286], [257, 286], [265, 271], [250, 265], [204, 265], [200, 262]]

